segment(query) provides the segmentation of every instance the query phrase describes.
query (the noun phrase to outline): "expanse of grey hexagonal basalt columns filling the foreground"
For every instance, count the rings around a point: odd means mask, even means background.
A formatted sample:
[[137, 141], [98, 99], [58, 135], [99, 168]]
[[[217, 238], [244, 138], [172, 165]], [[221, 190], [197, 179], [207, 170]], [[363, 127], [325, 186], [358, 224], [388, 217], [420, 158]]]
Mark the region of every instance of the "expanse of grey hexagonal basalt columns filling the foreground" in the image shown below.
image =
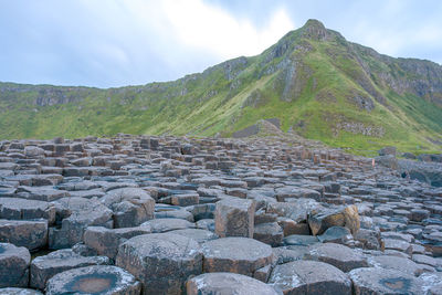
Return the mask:
[[442, 294], [442, 188], [391, 168], [285, 137], [3, 140], [0, 294]]

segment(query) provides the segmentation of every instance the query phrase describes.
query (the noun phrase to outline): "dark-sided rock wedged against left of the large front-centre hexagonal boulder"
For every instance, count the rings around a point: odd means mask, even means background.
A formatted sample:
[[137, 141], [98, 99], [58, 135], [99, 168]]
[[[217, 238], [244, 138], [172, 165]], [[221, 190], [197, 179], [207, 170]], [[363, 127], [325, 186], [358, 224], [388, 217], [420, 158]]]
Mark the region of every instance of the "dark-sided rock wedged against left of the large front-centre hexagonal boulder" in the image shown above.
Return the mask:
[[103, 226], [88, 226], [84, 232], [84, 243], [96, 251], [98, 255], [115, 259], [118, 246], [126, 240], [150, 233], [149, 226], [106, 229]]

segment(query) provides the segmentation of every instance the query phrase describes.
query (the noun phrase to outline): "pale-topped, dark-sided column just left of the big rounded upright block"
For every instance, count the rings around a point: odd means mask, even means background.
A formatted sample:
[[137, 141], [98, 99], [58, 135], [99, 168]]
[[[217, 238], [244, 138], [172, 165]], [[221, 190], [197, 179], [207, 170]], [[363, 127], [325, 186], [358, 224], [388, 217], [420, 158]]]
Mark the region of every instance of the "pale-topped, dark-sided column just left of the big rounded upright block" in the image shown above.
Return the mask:
[[61, 229], [50, 229], [50, 249], [71, 247], [82, 242], [87, 226], [113, 228], [110, 209], [96, 200], [73, 197], [60, 199], [56, 203], [69, 217], [63, 219]]

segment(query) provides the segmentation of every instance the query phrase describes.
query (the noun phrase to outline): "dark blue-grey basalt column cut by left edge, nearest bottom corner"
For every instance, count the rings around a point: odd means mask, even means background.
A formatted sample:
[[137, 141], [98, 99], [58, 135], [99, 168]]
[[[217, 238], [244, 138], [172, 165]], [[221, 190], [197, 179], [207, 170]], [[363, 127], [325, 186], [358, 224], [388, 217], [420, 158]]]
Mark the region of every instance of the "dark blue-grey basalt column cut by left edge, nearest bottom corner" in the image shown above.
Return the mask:
[[0, 287], [27, 287], [30, 262], [28, 249], [0, 243]]

